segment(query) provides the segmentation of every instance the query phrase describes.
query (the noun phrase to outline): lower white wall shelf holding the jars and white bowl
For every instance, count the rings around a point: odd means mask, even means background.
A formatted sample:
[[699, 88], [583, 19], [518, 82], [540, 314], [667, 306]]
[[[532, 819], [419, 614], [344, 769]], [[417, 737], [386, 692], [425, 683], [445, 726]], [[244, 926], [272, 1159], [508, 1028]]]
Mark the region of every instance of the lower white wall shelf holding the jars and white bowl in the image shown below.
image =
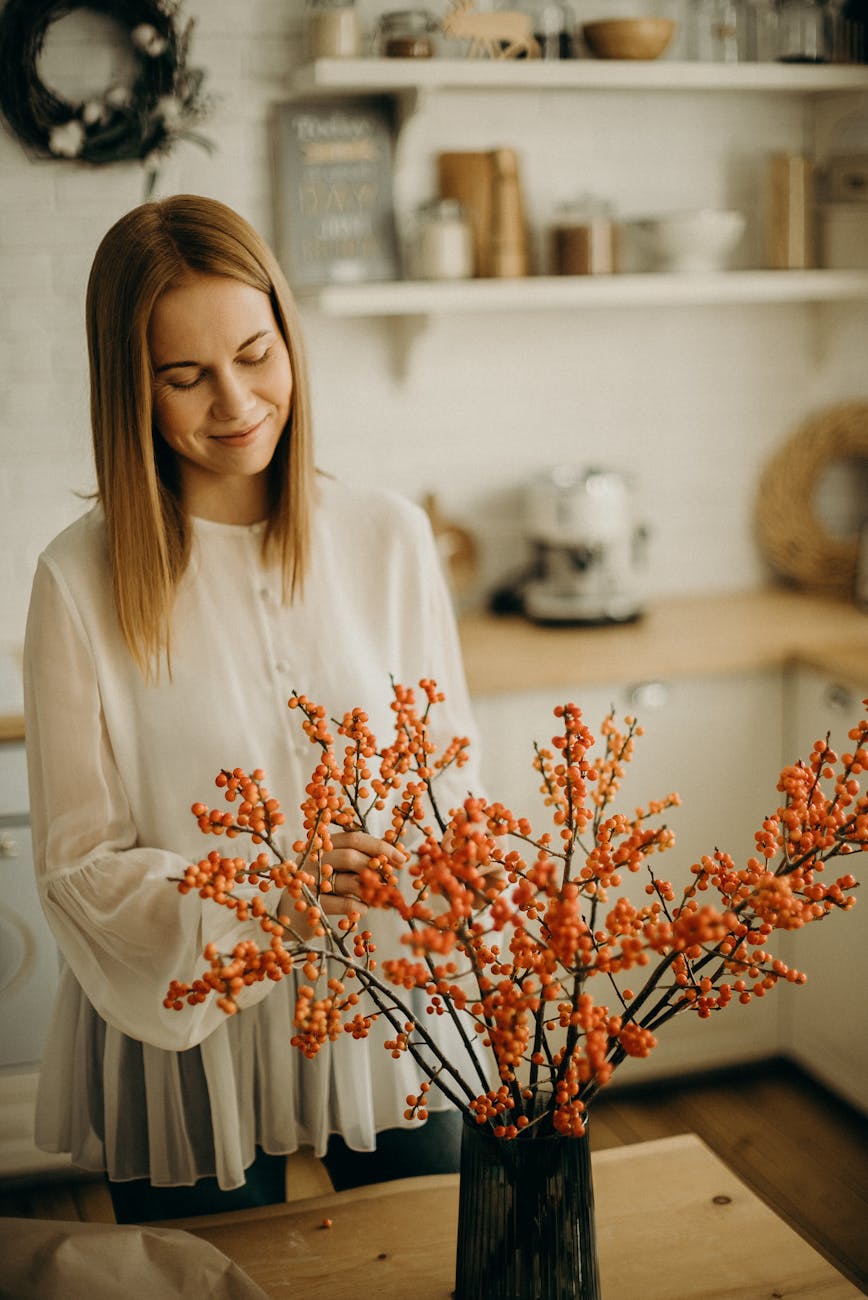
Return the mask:
[[433, 316], [439, 312], [555, 311], [868, 300], [868, 270], [732, 270], [524, 280], [390, 281], [299, 291], [326, 316]]

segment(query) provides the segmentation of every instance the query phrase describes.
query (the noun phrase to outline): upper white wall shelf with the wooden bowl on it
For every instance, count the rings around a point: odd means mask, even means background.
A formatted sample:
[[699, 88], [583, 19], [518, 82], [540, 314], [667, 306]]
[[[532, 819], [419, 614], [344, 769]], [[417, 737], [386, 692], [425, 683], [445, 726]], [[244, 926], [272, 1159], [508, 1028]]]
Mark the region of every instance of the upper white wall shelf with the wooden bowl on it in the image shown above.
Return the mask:
[[864, 64], [700, 64], [565, 58], [320, 58], [292, 78], [299, 94], [434, 90], [690, 90], [823, 95], [868, 91]]

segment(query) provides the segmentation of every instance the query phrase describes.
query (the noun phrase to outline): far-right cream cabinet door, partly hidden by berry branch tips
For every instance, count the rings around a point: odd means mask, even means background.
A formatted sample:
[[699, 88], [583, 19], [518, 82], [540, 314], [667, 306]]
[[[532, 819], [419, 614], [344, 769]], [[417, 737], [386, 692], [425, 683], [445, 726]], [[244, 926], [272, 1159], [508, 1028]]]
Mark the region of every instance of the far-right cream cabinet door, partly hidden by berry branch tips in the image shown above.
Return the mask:
[[[851, 749], [847, 729], [862, 715], [868, 682], [836, 681], [811, 668], [794, 668], [786, 684], [787, 758], [806, 754], [830, 734], [838, 754]], [[851, 870], [868, 880], [864, 855], [838, 858], [834, 876]], [[784, 1048], [826, 1087], [868, 1113], [868, 898], [864, 888], [849, 915], [833, 914], [787, 935], [785, 961], [808, 982], [782, 991]]]

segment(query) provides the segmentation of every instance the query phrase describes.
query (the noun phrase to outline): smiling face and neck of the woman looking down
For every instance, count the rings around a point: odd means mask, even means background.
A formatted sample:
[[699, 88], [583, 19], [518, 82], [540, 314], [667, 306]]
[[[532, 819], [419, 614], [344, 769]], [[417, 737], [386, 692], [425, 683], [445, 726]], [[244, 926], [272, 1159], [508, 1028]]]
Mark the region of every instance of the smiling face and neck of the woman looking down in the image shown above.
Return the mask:
[[153, 421], [175, 454], [185, 508], [226, 524], [262, 519], [292, 395], [268, 294], [191, 273], [157, 299], [148, 346]]

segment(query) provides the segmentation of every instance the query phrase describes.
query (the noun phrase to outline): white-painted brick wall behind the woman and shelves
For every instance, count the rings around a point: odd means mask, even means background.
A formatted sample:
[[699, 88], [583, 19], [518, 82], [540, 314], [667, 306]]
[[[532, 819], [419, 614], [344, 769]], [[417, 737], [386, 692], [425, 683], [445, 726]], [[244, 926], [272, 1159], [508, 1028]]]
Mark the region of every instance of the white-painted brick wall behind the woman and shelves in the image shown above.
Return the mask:
[[[218, 96], [205, 126], [218, 148], [179, 147], [160, 192], [220, 198], [273, 239], [269, 107], [290, 88], [301, 0], [187, 0], [185, 13], [198, 20], [192, 62]], [[81, 49], [66, 55], [56, 40], [52, 66], [66, 57], [79, 66]], [[802, 148], [807, 134], [791, 96], [451, 92], [402, 140], [396, 203], [403, 216], [429, 196], [438, 148], [507, 144], [520, 153], [539, 269], [554, 204], [586, 190], [621, 216], [743, 207], [750, 265], [763, 156]], [[40, 547], [92, 486], [84, 281], [101, 234], [142, 194], [136, 165], [34, 161], [0, 130], [6, 644], [21, 641]], [[751, 586], [763, 577], [751, 528], [760, 465], [811, 411], [865, 395], [867, 318], [862, 306], [439, 317], [396, 376], [391, 325], [305, 312], [318, 459], [413, 498], [434, 490], [477, 533], [482, 586], [521, 558], [516, 508], [530, 473], [561, 459], [612, 464], [632, 474], [651, 526], [652, 593]]]

